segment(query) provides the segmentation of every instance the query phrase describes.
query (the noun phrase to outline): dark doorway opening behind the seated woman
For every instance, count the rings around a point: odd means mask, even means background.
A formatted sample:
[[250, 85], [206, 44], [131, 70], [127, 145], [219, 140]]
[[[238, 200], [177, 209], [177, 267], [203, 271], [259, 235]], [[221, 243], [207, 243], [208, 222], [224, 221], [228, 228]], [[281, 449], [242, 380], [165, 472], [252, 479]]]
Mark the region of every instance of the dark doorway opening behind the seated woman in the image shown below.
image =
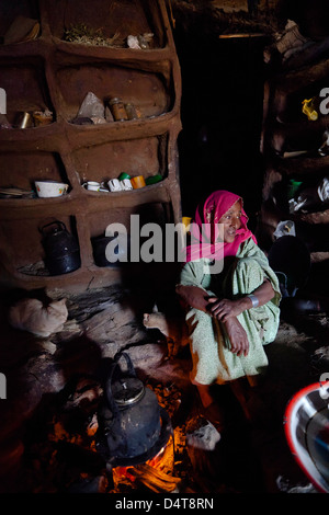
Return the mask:
[[251, 217], [261, 203], [263, 36], [186, 33], [177, 26], [182, 72], [179, 137], [183, 216], [215, 190], [240, 194]]

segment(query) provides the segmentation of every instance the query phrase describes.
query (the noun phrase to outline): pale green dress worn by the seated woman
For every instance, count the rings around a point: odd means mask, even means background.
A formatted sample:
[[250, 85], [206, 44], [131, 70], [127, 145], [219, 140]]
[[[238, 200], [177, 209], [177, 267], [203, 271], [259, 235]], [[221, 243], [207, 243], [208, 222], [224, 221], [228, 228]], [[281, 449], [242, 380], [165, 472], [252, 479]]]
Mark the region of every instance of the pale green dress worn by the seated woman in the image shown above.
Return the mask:
[[248, 335], [247, 356], [230, 352], [230, 342], [220, 321], [196, 308], [186, 310], [193, 362], [191, 380], [201, 385], [224, 384], [262, 374], [268, 366], [263, 346], [273, 342], [280, 322], [277, 277], [251, 238], [241, 243], [236, 258], [222, 273], [211, 273], [212, 265], [208, 259], [186, 263], [181, 271], [180, 284], [202, 287], [219, 298], [235, 299], [251, 294], [268, 278], [275, 295], [266, 305], [246, 310], [237, 317]]

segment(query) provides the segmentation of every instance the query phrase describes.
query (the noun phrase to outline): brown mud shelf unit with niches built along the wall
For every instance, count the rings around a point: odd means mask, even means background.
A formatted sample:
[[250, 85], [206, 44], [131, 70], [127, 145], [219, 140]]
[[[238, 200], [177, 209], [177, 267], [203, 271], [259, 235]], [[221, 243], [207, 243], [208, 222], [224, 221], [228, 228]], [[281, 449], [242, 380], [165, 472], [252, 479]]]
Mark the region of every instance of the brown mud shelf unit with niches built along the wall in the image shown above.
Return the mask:
[[[0, 88], [11, 124], [0, 129], [0, 188], [33, 191], [35, 180], [69, 185], [60, 197], [1, 195], [2, 284], [32, 289], [116, 282], [120, 267], [95, 264], [94, 238], [112, 222], [129, 232], [132, 214], [145, 221], [181, 221], [181, 75], [164, 0], [5, 0], [0, 11]], [[22, 32], [26, 20], [38, 24], [37, 35], [8, 42], [5, 35], [15, 25]], [[81, 30], [92, 34], [91, 42], [68, 38]], [[132, 47], [128, 36], [147, 43]], [[89, 92], [104, 108], [109, 98], [133, 103], [138, 117], [78, 124]], [[15, 125], [19, 113], [35, 111], [49, 111], [52, 123]], [[122, 172], [161, 180], [122, 192], [82, 186], [106, 184]], [[44, 266], [41, 227], [52, 220], [63, 221], [79, 243], [81, 266], [68, 274], [52, 276]]]

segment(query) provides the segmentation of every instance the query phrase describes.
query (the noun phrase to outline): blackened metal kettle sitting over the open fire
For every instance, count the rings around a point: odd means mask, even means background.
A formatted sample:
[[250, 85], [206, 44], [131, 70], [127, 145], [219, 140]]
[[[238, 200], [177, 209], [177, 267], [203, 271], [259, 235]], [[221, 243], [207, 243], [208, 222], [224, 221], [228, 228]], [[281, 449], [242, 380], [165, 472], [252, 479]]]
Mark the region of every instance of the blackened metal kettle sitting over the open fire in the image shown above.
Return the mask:
[[[126, 373], [118, 370], [121, 357], [126, 359]], [[99, 412], [98, 449], [105, 454], [107, 465], [133, 465], [155, 456], [168, 440], [171, 425], [157, 396], [136, 376], [128, 354], [116, 355], [104, 396]]]

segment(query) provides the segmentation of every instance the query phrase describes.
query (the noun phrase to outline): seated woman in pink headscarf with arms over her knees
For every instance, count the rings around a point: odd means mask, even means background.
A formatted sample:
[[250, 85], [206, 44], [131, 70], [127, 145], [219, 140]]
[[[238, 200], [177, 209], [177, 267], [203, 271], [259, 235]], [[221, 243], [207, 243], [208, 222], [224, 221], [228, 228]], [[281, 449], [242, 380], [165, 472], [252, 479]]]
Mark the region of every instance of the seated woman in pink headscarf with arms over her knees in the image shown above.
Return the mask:
[[191, 244], [177, 293], [185, 305], [193, 368], [208, 420], [218, 422], [211, 386], [247, 377], [250, 385], [268, 366], [263, 346], [275, 339], [279, 281], [247, 228], [242, 199], [214, 192], [196, 209]]

